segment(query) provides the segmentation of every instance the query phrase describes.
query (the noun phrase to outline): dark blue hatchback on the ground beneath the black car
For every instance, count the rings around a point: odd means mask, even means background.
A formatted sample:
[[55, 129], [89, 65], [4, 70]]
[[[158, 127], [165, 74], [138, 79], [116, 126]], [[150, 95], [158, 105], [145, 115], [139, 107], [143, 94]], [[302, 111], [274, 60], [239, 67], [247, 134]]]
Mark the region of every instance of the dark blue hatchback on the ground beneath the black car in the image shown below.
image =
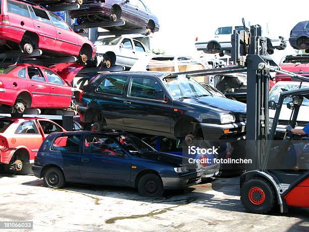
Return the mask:
[[198, 165], [158, 152], [133, 135], [87, 131], [47, 136], [32, 171], [49, 188], [63, 188], [66, 182], [117, 185], [148, 197], [197, 184], [202, 175]]

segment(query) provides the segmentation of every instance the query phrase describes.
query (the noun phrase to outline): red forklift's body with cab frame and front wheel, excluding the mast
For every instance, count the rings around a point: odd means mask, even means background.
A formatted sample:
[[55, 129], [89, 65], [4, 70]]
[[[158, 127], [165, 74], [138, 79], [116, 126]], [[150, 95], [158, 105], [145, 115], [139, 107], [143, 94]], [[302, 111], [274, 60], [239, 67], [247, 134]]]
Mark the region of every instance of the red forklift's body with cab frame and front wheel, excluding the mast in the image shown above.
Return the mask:
[[[271, 102], [276, 114], [262, 154], [263, 165], [247, 171], [240, 180], [242, 204], [252, 213], [267, 213], [276, 204], [281, 212], [287, 212], [288, 206], [309, 207], [309, 138], [303, 136], [299, 141], [300, 135], [289, 130], [283, 141], [273, 140], [282, 107], [292, 110], [289, 124], [295, 127], [304, 99], [309, 100], [309, 88], [282, 92], [278, 103]], [[285, 100], [290, 101], [286, 106]], [[300, 154], [292, 153], [299, 144]], [[290, 153], [294, 156], [292, 159], [288, 159]]]

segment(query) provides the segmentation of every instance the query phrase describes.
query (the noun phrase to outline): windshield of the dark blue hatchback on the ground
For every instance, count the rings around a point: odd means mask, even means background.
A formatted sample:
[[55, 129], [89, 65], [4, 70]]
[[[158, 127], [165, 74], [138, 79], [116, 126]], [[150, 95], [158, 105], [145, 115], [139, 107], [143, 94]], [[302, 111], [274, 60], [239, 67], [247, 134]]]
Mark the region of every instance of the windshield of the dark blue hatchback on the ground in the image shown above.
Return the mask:
[[151, 148], [149, 145], [133, 135], [120, 135], [114, 136], [114, 138], [133, 156], [144, 156], [149, 153], [157, 152], [155, 149]]

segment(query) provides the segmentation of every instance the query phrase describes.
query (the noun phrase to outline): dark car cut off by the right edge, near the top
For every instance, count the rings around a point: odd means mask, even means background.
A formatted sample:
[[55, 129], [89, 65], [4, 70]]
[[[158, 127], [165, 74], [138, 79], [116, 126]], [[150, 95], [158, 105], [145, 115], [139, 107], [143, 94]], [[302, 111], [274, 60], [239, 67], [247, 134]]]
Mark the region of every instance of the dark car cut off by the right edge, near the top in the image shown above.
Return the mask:
[[309, 21], [299, 22], [293, 27], [289, 42], [293, 49], [305, 49], [309, 53]]

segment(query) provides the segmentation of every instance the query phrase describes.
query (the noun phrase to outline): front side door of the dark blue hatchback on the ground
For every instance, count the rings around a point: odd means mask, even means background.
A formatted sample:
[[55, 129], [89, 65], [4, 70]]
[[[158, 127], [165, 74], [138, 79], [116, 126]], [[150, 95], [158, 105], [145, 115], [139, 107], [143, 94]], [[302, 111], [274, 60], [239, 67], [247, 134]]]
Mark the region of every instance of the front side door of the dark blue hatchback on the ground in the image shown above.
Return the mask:
[[85, 136], [79, 171], [84, 180], [129, 183], [131, 158], [124, 154], [120, 145], [104, 135]]

